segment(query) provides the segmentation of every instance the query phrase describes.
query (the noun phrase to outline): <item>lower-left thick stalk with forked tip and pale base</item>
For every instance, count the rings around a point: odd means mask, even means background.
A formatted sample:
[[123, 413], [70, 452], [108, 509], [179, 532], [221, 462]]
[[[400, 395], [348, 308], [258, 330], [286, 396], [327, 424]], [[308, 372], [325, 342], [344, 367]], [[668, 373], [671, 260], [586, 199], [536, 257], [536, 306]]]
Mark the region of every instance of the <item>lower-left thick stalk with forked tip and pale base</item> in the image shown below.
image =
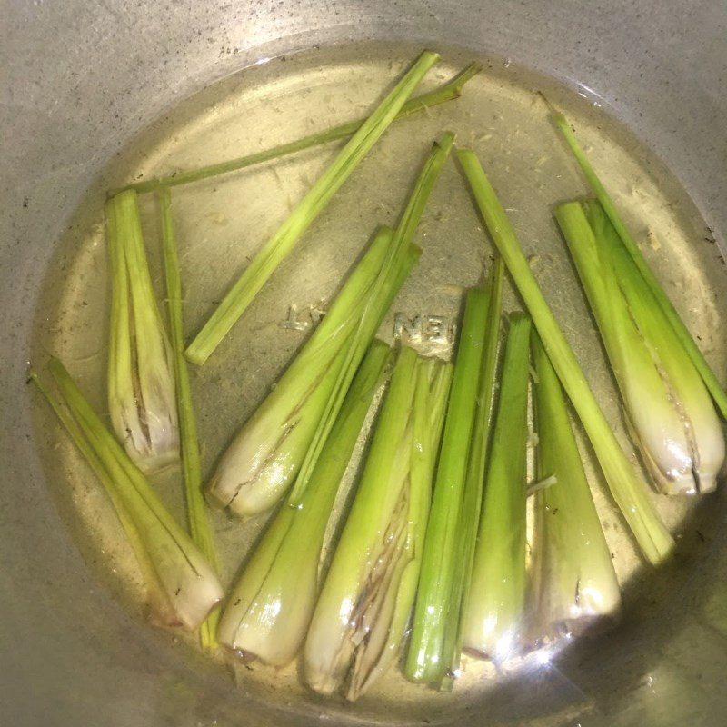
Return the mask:
[[115, 505], [144, 575], [149, 617], [158, 625], [194, 630], [223, 596], [212, 567], [85, 401], [63, 364], [48, 364], [61, 400], [39, 381], [79, 451]]

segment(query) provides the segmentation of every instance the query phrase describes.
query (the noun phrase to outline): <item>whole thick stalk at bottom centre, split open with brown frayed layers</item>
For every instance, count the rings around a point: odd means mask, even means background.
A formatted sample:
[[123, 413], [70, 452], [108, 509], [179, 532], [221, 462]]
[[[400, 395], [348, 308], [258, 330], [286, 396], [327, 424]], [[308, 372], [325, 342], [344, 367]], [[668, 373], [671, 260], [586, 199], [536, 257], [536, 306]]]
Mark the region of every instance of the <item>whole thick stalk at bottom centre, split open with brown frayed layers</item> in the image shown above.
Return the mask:
[[355, 699], [398, 653], [411, 612], [450, 369], [404, 347], [316, 603], [305, 682]]

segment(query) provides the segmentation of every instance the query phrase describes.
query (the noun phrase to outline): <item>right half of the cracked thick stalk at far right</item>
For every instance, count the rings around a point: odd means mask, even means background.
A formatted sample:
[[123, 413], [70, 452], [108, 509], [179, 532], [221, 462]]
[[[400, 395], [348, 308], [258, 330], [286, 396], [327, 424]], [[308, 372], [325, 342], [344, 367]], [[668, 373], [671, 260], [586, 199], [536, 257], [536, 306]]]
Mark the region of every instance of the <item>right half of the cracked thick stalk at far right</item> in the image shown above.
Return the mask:
[[[670, 444], [662, 443], [658, 457], [646, 458], [652, 474], [667, 493], [709, 493], [717, 487], [717, 476], [724, 462], [724, 435], [712, 398], [692, 359], [681, 345], [669, 320], [621, 244], [612, 224], [604, 219], [600, 204], [586, 204], [593, 229], [602, 234], [598, 239], [608, 247], [616, 278], [628, 304], [629, 314], [652, 354], [668, 389], [672, 407], [677, 411], [688, 449], [683, 453], [682, 467], [675, 466], [671, 433]], [[667, 453], [665, 450], [669, 450]]]

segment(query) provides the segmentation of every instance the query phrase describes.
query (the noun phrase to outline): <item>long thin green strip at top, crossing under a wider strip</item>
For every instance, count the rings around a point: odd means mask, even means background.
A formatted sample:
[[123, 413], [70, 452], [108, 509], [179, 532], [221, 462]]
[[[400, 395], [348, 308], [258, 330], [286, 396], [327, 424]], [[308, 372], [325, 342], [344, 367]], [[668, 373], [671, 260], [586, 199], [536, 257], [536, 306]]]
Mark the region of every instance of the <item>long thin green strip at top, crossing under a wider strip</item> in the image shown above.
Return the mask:
[[[464, 85], [481, 70], [481, 64], [472, 63], [463, 68], [460, 73], [455, 75], [450, 81], [447, 81], [446, 84], [443, 84], [426, 94], [417, 96], [416, 98], [410, 98], [402, 106], [399, 113], [394, 117], [394, 121], [417, 114], [431, 106], [443, 104], [447, 101], [459, 98], [462, 95]], [[294, 142], [288, 142], [287, 144], [274, 146], [271, 149], [265, 149], [262, 152], [238, 156], [235, 159], [229, 159], [224, 162], [219, 162], [218, 164], [206, 164], [198, 167], [197, 169], [175, 172], [174, 174], [169, 174], [164, 177], [145, 179], [143, 182], [135, 182], [134, 184], [128, 184], [121, 189], [112, 190], [109, 194], [117, 194], [125, 189], [134, 189], [138, 194], [144, 194], [164, 187], [174, 187], [179, 186], [180, 184], [192, 184], [221, 174], [230, 174], [231, 172], [237, 172], [248, 166], [263, 164], [264, 162], [270, 162], [273, 159], [280, 159], [289, 154], [302, 152], [304, 149], [310, 149], [314, 146], [329, 144], [330, 142], [334, 142], [339, 139], [345, 139], [346, 137], [355, 134], [365, 121], [365, 119], [356, 119], [355, 121], [349, 121], [345, 124], [334, 126], [326, 131], [309, 134], [301, 139], [296, 139]]]

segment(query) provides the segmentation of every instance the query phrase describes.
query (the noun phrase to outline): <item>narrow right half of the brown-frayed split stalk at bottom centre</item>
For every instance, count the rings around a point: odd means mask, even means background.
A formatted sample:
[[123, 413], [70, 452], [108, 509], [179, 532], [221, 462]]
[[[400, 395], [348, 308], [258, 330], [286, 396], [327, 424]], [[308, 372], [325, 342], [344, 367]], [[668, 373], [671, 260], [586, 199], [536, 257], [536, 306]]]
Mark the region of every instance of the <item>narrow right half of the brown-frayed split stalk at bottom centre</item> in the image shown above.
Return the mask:
[[398, 659], [412, 616], [432, 500], [432, 478], [452, 374], [452, 364], [436, 359], [420, 359], [418, 362], [412, 412], [413, 441], [409, 473], [411, 486], [406, 541], [403, 546], [403, 568], [401, 574], [392, 579], [389, 588], [388, 595], [393, 599], [393, 605], [382, 608], [371, 632], [356, 649], [346, 692], [346, 698], [351, 701], [366, 692]]

